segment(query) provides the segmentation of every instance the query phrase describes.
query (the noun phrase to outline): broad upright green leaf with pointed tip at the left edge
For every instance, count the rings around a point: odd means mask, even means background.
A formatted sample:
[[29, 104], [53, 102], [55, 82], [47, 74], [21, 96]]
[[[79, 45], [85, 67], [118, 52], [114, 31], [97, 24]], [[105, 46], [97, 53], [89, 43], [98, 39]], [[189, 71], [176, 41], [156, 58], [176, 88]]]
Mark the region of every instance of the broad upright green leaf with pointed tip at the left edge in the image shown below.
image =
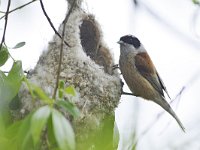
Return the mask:
[[24, 77], [21, 61], [16, 61], [6, 76], [0, 71], [0, 111], [8, 107], [9, 102], [17, 95]]

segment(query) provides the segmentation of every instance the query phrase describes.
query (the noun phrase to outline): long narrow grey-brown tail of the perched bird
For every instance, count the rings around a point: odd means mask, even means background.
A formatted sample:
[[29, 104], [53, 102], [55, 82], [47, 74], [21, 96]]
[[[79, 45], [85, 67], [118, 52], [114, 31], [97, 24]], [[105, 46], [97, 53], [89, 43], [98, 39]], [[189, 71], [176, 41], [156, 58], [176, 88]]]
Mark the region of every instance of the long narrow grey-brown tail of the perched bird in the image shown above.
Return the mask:
[[164, 98], [162, 98], [161, 100], [157, 100], [155, 102], [159, 104], [163, 109], [165, 109], [176, 120], [176, 122], [179, 124], [183, 132], [185, 132], [185, 127], [183, 126], [183, 124], [181, 123], [180, 119], [178, 118], [176, 113], [173, 111], [171, 106], [168, 104], [168, 102]]

